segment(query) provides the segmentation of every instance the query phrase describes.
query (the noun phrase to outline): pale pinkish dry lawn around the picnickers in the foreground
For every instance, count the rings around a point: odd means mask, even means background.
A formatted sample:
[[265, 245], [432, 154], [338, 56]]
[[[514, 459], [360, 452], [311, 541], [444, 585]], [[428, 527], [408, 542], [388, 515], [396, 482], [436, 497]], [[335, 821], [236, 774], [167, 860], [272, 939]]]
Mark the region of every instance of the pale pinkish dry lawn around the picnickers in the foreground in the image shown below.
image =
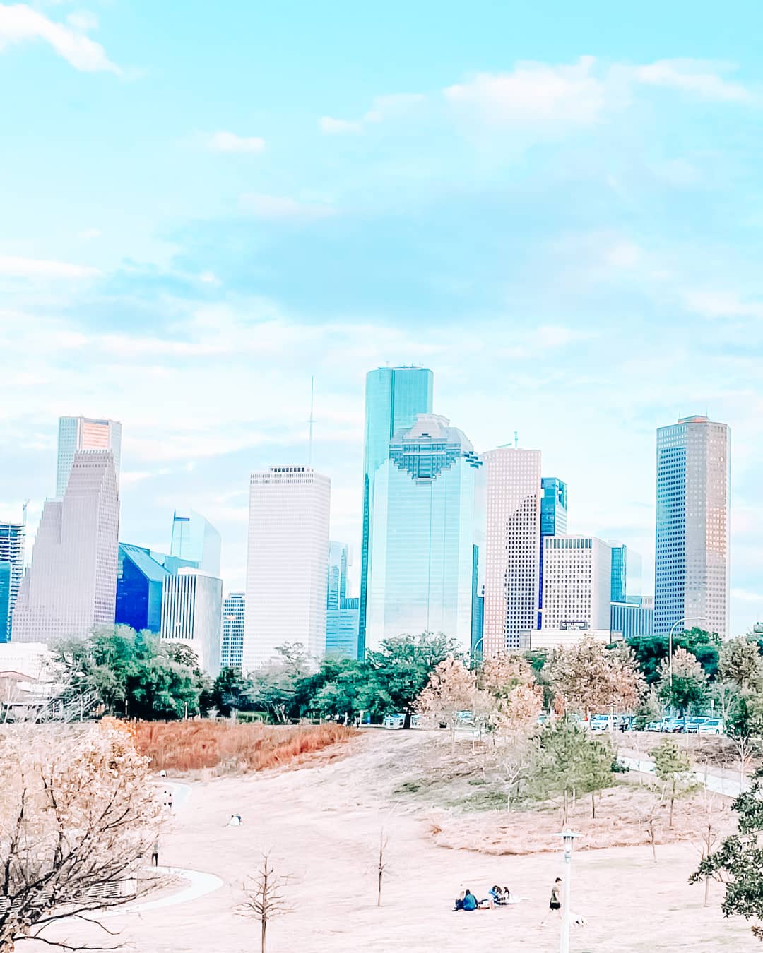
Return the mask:
[[[258, 925], [232, 911], [263, 849], [286, 888], [292, 913], [275, 921], [269, 953], [496, 953], [558, 949], [558, 922], [539, 925], [550, 885], [562, 874], [559, 854], [488, 857], [435, 846], [426, 814], [382, 801], [388, 776], [424, 733], [368, 732], [354, 753], [320, 767], [275, 776], [195, 783], [190, 799], [162, 839], [162, 862], [217, 874], [224, 884], [194, 902], [115, 916], [127, 948], [140, 953], [251, 953]], [[380, 767], [381, 766], [381, 767]], [[232, 813], [243, 826], [226, 827]], [[380, 830], [388, 838], [389, 877], [376, 904]], [[703, 888], [689, 886], [692, 844], [585, 851], [574, 860], [572, 909], [588, 925], [572, 935], [577, 953], [629, 950], [760, 950], [745, 923], [724, 921], [720, 888], [704, 908]], [[450, 912], [461, 884], [486, 894], [492, 882], [528, 898], [517, 906], [472, 914]], [[103, 942], [93, 928], [72, 923], [56, 937]], [[45, 947], [28, 944], [28, 953]], [[50, 948], [50, 947], [48, 947]]]

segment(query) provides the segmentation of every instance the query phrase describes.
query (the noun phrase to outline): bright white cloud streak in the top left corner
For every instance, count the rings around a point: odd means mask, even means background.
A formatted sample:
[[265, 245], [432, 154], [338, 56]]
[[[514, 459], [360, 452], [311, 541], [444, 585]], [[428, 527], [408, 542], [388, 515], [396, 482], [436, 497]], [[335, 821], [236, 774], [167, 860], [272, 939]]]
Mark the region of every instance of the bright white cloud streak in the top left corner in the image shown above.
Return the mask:
[[121, 73], [103, 47], [78, 30], [55, 23], [26, 4], [0, 4], [0, 50], [35, 39], [50, 44], [75, 70]]

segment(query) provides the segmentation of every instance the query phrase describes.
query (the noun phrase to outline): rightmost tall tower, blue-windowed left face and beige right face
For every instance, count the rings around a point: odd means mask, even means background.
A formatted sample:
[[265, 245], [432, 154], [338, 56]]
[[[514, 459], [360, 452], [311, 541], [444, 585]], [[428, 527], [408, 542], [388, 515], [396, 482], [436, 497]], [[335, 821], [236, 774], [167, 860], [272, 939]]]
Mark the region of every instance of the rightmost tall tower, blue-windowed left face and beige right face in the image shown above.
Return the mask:
[[654, 633], [729, 633], [728, 424], [683, 417], [657, 431]]

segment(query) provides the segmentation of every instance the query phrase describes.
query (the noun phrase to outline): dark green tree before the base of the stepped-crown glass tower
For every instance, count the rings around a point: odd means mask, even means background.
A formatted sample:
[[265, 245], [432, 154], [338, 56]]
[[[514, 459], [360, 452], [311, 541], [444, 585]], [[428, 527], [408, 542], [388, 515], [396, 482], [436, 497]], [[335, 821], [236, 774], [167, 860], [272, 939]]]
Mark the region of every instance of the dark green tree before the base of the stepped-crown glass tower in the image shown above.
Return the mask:
[[442, 632], [384, 639], [380, 649], [367, 652], [365, 659], [379, 693], [378, 705], [384, 712], [401, 712], [403, 727], [409, 728], [432, 670], [448, 656], [455, 657], [458, 650], [458, 642]]

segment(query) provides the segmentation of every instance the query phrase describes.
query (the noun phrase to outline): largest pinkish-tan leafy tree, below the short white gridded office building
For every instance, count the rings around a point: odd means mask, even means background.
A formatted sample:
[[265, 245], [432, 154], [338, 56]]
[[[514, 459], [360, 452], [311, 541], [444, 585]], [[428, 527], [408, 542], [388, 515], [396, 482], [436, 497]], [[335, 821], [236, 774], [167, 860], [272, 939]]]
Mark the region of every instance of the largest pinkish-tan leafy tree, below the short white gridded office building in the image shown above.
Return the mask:
[[608, 648], [592, 636], [556, 649], [547, 664], [554, 692], [564, 698], [568, 709], [584, 715], [610, 707], [631, 711], [644, 691], [644, 679], [629, 648]]

